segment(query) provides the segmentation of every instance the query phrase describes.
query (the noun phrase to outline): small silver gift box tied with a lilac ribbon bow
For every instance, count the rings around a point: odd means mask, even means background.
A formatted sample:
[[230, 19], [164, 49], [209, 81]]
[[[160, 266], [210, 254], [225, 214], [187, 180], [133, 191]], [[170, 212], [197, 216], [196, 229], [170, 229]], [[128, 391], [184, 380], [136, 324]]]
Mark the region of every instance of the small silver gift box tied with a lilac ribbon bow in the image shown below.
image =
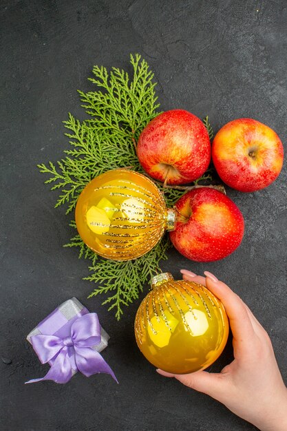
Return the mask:
[[100, 326], [98, 315], [89, 313], [75, 297], [63, 302], [40, 322], [27, 336], [42, 364], [51, 368], [41, 380], [67, 383], [81, 371], [89, 377], [106, 372], [116, 376], [100, 352], [107, 347], [109, 335]]

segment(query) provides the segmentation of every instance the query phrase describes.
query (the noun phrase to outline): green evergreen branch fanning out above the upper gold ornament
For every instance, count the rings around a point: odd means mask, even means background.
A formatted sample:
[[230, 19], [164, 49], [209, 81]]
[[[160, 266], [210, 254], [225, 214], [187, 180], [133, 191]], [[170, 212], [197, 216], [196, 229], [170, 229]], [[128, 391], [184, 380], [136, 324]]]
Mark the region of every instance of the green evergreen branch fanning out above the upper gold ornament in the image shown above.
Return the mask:
[[103, 88], [95, 92], [81, 92], [87, 114], [92, 116], [82, 123], [72, 114], [64, 121], [69, 130], [71, 149], [64, 151], [66, 157], [47, 166], [38, 165], [40, 172], [49, 174], [45, 184], [53, 183], [52, 190], [61, 190], [55, 207], [68, 204], [67, 213], [76, 206], [79, 194], [92, 178], [109, 169], [134, 166], [141, 167], [136, 156], [133, 140], [151, 118], [158, 113], [153, 74], [145, 60], [131, 56], [134, 79], [114, 67], [108, 74], [105, 67], [95, 66], [96, 78], [90, 81]]

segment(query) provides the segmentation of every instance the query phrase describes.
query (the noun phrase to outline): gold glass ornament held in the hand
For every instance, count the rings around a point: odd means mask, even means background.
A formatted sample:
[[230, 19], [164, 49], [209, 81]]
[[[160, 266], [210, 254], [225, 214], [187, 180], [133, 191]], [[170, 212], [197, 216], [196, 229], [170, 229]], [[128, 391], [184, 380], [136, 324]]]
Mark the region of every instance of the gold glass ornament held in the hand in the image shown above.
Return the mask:
[[204, 370], [222, 353], [228, 337], [224, 306], [206, 287], [169, 273], [151, 280], [135, 320], [136, 342], [157, 368], [174, 374]]

